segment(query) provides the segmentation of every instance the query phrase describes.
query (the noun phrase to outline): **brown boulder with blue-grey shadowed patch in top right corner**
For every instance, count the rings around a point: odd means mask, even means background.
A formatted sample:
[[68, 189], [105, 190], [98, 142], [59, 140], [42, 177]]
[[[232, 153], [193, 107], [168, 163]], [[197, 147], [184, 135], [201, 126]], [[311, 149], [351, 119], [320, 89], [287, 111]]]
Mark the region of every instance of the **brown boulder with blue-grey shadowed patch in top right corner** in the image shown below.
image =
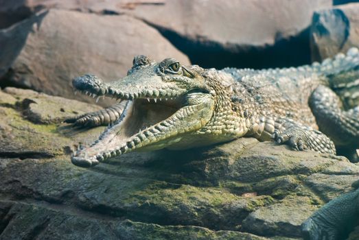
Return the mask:
[[359, 3], [314, 13], [312, 19], [312, 60], [332, 58], [351, 47], [359, 47]]

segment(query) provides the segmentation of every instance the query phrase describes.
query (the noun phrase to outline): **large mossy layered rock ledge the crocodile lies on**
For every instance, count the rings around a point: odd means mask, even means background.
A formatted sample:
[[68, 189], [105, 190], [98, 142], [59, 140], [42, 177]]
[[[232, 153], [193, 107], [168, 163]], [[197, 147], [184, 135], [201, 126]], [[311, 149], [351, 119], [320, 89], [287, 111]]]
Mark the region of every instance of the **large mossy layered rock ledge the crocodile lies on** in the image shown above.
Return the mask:
[[103, 128], [60, 122], [97, 109], [0, 92], [0, 239], [295, 239], [303, 220], [359, 176], [346, 158], [251, 138], [82, 169], [71, 149]]

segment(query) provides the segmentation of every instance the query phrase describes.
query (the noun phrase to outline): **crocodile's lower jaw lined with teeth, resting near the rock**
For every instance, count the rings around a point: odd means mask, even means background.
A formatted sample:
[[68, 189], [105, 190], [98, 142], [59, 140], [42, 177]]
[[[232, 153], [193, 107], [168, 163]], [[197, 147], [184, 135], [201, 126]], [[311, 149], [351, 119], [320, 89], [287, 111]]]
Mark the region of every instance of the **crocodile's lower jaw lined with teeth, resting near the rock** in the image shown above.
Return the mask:
[[[121, 121], [124, 121], [123, 123], [119, 122], [117, 125], [109, 128], [108, 131], [111, 132], [104, 134], [102, 139], [100, 137], [100, 142], [83, 149], [81, 152], [78, 152], [76, 156], [73, 156], [73, 163], [75, 165], [86, 165], [84, 167], [91, 167], [92, 165], [98, 164], [98, 162], [127, 152], [152, 151], [172, 146], [180, 147], [185, 132], [196, 132], [211, 118], [210, 112], [206, 112], [207, 109], [211, 108], [205, 104], [183, 106], [178, 110], [174, 110], [174, 112], [169, 111], [161, 117], [157, 116], [157, 120], [159, 120], [156, 121], [157, 123], [151, 125], [150, 128], [135, 134], [134, 129], [139, 125], [138, 122], [136, 123], [134, 120], [141, 119], [141, 123], [148, 119], [146, 119], [146, 117], [138, 116], [143, 114], [143, 112], [138, 109], [136, 112], [133, 106], [134, 104], [130, 104], [130, 106], [125, 107], [124, 113], [121, 115]], [[152, 111], [154, 110], [156, 109], [153, 108]], [[201, 113], [203, 111], [205, 112]], [[126, 114], [129, 114], [130, 117], [126, 117]], [[154, 112], [154, 114], [157, 114], [157, 112]], [[207, 119], [203, 118], [204, 115], [207, 116]], [[126, 128], [128, 128], [129, 131], [127, 133]], [[121, 134], [124, 134], [122, 135], [123, 137], [120, 136], [120, 132]], [[176, 148], [184, 149], [194, 147], [194, 145], [188, 144], [187, 141], [184, 142], [186, 142], [187, 147]], [[198, 142], [201, 142], [200, 136]], [[91, 163], [86, 163], [86, 158], [89, 158]], [[82, 161], [84, 163], [82, 163]]]

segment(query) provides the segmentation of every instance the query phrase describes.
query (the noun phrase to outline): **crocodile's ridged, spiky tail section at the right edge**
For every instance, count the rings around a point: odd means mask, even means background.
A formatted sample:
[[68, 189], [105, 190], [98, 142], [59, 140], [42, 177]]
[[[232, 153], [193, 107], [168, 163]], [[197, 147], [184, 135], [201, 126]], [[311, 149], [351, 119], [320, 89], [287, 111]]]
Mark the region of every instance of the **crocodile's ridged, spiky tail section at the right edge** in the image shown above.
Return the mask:
[[347, 54], [338, 53], [312, 67], [327, 76], [329, 86], [343, 99], [347, 108], [359, 106], [359, 50], [352, 47]]

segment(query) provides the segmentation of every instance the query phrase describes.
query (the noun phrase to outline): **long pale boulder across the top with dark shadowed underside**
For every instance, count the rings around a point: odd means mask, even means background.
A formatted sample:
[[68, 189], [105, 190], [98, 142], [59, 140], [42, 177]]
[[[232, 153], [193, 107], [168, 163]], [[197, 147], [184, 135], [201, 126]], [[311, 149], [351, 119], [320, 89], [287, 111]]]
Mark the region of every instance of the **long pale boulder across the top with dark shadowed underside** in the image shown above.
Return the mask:
[[[308, 27], [332, 0], [25, 1], [23, 8], [135, 16], [202, 67], [292, 67], [310, 62]], [[225, 13], [225, 14], [224, 14]], [[167, 56], [171, 56], [170, 52]], [[220, 61], [218, 61], [220, 59]]]

